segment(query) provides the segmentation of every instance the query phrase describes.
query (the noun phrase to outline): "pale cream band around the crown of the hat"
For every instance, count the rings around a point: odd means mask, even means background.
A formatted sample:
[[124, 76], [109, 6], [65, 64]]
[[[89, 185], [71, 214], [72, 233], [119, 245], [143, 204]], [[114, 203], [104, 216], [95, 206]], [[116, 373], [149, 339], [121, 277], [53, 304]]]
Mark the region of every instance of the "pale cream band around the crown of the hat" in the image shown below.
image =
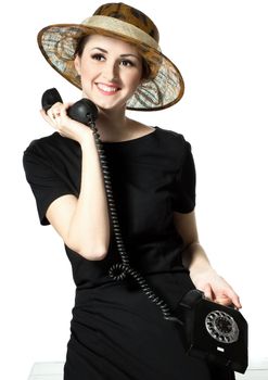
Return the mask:
[[141, 30], [137, 26], [120, 21], [118, 18], [114, 18], [111, 16], [91, 16], [84, 20], [81, 25], [88, 27], [98, 27], [107, 31], [120, 34], [126, 37], [137, 39], [138, 41], [148, 45], [150, 48], [161, 51], [158, 43], [153, 37], [148, 35], [145, 31]]

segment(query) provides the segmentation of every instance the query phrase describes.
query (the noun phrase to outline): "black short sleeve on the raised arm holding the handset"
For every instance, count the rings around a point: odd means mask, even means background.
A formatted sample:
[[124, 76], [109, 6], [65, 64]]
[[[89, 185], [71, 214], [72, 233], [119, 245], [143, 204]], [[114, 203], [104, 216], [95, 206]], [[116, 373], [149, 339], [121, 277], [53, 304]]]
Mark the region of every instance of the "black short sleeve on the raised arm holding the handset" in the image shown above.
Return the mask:
[[51, 164], [28, 147], [23, 154], [26, 179], [36, 199], [40, 224], [49, 225], [46, 217], [49, 205], [59, 197], [73, 193], [66, 182], [53, 170]]

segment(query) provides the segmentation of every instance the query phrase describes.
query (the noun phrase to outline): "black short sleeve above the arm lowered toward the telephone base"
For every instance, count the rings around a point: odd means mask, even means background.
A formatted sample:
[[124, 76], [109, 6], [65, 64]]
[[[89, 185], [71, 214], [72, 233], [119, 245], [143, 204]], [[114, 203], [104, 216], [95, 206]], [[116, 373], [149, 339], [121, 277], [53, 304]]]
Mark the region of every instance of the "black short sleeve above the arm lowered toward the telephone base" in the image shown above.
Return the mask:
[[182, 164], [175, 179], [174, 211], [191, 213], [195, 207], [195, 165], [190, 143], [187, 143]]

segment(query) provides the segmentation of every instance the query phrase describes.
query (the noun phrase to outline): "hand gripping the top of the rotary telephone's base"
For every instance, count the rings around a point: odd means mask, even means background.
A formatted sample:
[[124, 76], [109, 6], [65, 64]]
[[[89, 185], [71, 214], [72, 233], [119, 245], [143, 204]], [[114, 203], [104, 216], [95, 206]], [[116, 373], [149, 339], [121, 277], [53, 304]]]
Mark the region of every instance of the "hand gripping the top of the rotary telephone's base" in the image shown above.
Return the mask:
[[213, 268], [190, 273], [190, 276], [196, 289], [204, 292], [205, 297], [221, 305], [232, 304], [237, 308], [242, 307], [238, 294]]

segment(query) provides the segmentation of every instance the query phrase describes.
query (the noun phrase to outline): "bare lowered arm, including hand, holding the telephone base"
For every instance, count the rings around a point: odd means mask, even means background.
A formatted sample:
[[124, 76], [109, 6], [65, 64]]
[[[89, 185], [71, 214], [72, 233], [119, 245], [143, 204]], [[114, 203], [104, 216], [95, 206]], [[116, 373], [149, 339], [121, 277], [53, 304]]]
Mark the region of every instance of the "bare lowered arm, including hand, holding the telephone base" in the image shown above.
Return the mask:
[[183, 265], [190, 270], [190, 277], [196, 289], [205, 296], [222, 305], [233, 304], [241, 308], [238, 294], [231, 286], [212, 267], [209, 259], [199, 242], [194, 212], [189, 214], [174, 213], [177, 231], [183, 239]]

